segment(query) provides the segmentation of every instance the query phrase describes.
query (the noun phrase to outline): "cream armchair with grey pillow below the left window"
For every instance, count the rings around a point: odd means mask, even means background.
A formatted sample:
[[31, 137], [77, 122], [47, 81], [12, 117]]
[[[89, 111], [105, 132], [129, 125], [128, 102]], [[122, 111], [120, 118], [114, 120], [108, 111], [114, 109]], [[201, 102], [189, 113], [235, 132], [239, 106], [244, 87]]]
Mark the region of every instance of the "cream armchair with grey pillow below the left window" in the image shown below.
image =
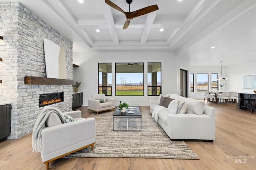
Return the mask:
[[[97, 99], [97, 100], [96, 100]], [[105, 94], [92, 94], [92, 99], [88, 99], [88, 109], [90, 111], [96, 111], [97, 115], [100, 111], [106, 111], [115, 109], [115, 99], [106, 98]]]

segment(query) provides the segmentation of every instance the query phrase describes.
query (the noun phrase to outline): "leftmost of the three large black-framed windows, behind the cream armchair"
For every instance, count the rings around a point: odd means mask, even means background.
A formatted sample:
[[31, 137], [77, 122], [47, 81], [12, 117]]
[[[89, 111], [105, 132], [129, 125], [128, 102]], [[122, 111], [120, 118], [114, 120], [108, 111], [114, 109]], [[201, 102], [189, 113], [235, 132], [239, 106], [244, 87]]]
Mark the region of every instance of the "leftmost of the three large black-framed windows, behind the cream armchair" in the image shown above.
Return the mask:
[[98, 94], [112, 96], [112, 63], [99, 63], [98, 72]]

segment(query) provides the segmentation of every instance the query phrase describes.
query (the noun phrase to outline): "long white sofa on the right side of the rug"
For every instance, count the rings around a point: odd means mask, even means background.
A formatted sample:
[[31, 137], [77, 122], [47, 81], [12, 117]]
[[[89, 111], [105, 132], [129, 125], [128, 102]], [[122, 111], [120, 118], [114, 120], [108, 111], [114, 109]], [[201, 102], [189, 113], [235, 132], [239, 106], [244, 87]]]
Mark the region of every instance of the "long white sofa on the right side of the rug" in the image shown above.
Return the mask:
[[187, 105], [185, 114], [171, 114], [168, 108], [159, 105], [159, 101], [150, 101], [150, 112], [153, 113], [154, 108], [158, 108], [157, 122], [171, 140], [213, 141], [215, 139], [215, 108], [205, 106], [203, 101], [184, 98], [178, 94], [166, 96], [183, 100]]

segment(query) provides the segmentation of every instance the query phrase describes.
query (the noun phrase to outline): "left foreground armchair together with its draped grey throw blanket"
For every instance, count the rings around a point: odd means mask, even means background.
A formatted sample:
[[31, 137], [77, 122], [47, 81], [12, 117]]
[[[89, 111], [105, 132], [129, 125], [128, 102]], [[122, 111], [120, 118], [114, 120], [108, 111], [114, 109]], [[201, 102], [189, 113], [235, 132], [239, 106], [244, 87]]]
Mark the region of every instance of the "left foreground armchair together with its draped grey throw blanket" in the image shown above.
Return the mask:
[[[67, 121], [65, 116], [71, 117], [72, 121]], [[43, 109], [32, 134], [33, 151], [41, 152], [46, 170], [49, 162], [86, 147], [93, 150], [95, 143], [95, 119], [81, 118], [79, 110], [61, 113], [53, 107]]]

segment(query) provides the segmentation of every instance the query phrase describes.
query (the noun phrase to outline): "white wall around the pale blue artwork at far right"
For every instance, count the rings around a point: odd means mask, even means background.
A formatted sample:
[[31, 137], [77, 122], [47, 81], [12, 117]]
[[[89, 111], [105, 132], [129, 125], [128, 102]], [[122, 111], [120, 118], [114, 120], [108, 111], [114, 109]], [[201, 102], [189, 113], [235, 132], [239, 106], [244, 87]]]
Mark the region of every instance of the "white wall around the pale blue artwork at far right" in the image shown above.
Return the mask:
[[256, 74], [256, 60], [227, 67], [227, 89], [238, 92], [252, 92], [256, 89], [243, 89], [243, 76]]

